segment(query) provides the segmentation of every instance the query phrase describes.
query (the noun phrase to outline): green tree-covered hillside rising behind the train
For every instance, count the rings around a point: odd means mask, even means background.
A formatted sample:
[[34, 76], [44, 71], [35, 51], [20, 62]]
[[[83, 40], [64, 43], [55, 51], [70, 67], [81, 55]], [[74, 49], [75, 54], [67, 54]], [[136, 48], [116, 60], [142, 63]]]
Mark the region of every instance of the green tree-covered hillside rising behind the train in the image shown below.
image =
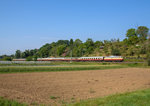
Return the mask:
[[11, 56], [2, 55], [1, 60], [12, 58], [26, 58], [36, 60], [38, 57], [81, 57], [81, 56], [123, 56], [146, 58], [150, 49], [149, 28], [139, 26], [126, 31], [125, 39], [93, 41], [88, 38], [85, 42], [80, 39], [58, 40], [47, 43], [39, 49], [16, 50]]

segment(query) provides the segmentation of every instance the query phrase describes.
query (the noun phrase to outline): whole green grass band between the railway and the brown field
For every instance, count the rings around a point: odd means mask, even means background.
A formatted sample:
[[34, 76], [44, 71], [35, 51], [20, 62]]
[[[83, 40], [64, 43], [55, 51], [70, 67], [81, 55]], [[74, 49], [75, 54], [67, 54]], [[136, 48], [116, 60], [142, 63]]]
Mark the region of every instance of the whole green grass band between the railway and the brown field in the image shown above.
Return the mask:
[[127, 67], [150, 68], [145, 63], [53, 62], [51, 65], [0, 66], [0, 73], [103, 70]]

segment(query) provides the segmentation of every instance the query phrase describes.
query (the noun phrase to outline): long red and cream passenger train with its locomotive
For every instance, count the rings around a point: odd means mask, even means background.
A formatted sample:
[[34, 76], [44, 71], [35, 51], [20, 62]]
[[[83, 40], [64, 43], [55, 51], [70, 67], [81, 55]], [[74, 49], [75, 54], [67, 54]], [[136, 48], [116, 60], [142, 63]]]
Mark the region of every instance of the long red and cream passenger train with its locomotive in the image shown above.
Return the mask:
[[[13, 61], [25, 61], [26, 59], [13, 59]], [[122, 56], [96, 56], [96, 57], [47, 57], [37, 58], [37, 61], [97, 61], [97, 62], [122, 62]]]

